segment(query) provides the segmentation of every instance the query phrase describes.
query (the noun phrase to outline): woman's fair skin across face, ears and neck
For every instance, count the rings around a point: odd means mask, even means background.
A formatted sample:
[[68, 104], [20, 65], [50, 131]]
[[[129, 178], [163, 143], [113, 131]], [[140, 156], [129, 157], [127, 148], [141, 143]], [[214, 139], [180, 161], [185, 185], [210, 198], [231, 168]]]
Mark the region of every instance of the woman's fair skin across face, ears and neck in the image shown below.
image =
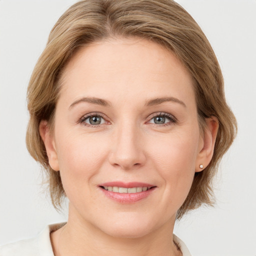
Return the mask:
[[[212, 157], [217, 122], [206, 125], [200, 132], [191, 77], [170, 51], [137, 38], [81, 48], [61, 77], [53, 132], [39, 127], [69, 199], [54, 255], [181, 255], [172, 231]], [[148, 190], [130, 197], [106, 190], [111, 182]]]

